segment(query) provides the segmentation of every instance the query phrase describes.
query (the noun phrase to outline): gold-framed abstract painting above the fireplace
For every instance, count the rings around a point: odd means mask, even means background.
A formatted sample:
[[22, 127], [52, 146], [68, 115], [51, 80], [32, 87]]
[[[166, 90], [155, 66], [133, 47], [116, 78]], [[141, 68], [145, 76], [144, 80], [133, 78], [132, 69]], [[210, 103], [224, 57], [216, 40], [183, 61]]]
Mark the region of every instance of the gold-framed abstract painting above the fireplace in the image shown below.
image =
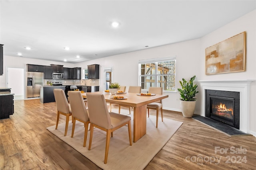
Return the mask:
[[206, 74], [245, 71], [246, 32], [205, 49]]

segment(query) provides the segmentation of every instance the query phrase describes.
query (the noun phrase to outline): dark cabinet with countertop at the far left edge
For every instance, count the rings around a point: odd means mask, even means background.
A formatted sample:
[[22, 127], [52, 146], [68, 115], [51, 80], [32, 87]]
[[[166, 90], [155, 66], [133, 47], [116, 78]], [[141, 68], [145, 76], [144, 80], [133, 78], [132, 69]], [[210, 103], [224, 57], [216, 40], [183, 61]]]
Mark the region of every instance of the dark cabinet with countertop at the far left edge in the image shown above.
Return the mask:
[[10, 118], [14, 113], [14, 100], [11, 88], [0, 88], [0, 119]]

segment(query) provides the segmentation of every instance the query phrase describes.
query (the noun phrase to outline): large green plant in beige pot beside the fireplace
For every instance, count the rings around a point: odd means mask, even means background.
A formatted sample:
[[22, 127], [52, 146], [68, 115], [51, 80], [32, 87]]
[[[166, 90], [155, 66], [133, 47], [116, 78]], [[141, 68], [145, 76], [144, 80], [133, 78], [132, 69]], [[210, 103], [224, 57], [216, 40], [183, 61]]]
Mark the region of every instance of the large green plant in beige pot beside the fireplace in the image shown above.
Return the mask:
[[178, 88], [180, 92], [180, 105], [182, 110], [182, 115], [184, 117], [192, 117], [196, 108], [196, 91], [197, 84], [193, 84], [196, 76], [190, 78], [190, 81], [187, 82], [184, 78], [180, 81], [181, 89]]

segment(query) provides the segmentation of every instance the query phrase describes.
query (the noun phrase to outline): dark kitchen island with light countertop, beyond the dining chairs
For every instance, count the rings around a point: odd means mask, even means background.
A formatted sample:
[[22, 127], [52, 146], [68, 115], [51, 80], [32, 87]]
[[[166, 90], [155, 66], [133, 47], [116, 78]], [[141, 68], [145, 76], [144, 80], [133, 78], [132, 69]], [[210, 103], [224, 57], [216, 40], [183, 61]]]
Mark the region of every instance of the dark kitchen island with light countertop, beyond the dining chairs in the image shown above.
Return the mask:
[[66, 86], [41, 86], [40, 87], [40, 102], [49, 103], [55, 102], [53, 89], [62, 89], [65, 91]]

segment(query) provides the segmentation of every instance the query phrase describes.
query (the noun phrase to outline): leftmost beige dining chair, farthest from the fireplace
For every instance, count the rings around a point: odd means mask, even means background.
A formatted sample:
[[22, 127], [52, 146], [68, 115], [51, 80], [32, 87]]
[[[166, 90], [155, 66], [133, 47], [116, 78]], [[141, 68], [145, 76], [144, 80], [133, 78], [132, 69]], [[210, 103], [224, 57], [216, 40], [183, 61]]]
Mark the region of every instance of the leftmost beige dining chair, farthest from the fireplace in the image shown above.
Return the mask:
[[57, 106], [57, 122], [56, 122], [56, 128], [58, 128], [58, 123], [60, 119], [60, 114], [66, 116], [66, 126], [65, 126], [65, 133], [64, 136], [67, 135], [68, 131], [68, 121], [69, 117], [72, 115], [71, 107], [68, 104], [67, 98], [65, 96], [65, 92], [62, 89], [54, 89], [54, 98]]

